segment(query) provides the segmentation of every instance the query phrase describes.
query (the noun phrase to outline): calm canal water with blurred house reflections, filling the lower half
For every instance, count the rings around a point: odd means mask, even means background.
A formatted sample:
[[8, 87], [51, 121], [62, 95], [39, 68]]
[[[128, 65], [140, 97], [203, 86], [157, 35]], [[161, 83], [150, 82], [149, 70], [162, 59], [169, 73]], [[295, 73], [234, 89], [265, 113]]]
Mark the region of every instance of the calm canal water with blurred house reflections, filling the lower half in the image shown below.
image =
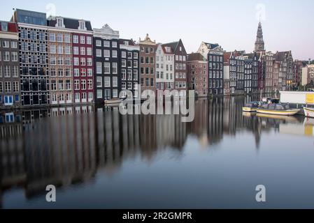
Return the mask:
[[1, 112], [0, 206], [314, 208], [314, 120], [243, 114], [246, 100], [198, 100], [192, 123], [94, 106]]

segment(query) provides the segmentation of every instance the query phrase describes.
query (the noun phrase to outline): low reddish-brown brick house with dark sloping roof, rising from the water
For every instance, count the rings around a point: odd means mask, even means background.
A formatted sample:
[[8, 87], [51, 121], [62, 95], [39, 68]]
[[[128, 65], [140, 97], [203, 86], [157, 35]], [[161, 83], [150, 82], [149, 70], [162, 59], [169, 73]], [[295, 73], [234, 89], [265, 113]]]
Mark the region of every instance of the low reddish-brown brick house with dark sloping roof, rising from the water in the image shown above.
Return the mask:
[[208, 95], [208, 63], [199, 53], [187, 55], [187, 83], [200, 97]]

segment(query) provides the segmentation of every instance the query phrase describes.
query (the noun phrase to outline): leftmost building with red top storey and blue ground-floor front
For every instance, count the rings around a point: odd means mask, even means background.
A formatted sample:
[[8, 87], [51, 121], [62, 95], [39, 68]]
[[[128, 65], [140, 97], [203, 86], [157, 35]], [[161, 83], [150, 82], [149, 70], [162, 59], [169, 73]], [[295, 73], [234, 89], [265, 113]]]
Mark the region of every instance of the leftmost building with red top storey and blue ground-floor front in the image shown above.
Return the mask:
[[19, 61], [17, 25], [0, 21], [0, 108], [21, 105]]

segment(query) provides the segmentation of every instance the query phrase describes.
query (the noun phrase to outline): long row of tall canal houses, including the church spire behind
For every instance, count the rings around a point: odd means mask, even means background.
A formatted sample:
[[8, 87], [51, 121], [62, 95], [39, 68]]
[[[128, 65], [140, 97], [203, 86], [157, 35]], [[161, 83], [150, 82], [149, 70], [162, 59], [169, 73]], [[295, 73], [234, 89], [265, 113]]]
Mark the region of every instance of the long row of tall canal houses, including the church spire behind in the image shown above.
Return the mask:
[[199, 96], [285, 90], [292, 85], [291, 52], [265, 52], [261, 35], [259, 24], [252, 54], [205, 42], [187, 54], [182, 40], [157, 43], [147, 35], [135, 42], [108, 24], [93, 29], [90, 21], [16, 9], [10, 22], [0, 22], [0, 107], [103, 103], [125, 97], [122, 90], [134, 98], [144, 90], [176, 89], [181, 96], [189, 89]]

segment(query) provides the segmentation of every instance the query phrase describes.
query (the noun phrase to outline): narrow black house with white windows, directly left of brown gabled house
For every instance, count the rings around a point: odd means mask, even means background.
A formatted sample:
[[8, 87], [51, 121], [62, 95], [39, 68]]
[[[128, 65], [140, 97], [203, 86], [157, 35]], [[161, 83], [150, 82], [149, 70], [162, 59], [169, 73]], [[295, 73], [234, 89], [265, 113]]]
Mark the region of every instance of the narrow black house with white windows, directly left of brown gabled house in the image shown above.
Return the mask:
[[[134, 98], [140, 98], [138, 95], [138, 84], [139, 84], [139, 52], [140, 47], [134, 43], [134, 40], [120, 39], [120, 69], [121, 69], [121, 85], [122, 90], [129, 90], [133, 93]], [[122, 98], [126, 94], [122, 92]]]

